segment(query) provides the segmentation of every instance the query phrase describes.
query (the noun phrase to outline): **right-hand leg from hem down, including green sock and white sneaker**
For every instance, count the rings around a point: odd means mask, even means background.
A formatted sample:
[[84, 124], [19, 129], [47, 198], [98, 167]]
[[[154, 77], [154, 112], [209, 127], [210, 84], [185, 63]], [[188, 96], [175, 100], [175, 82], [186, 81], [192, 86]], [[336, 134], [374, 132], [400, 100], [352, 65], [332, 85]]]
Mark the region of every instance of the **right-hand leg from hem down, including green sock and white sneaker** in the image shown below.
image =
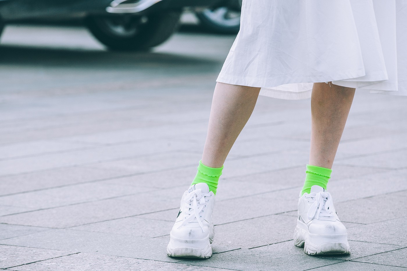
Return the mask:
[[313, 86], [311, 152], [294, 231], [295, 245], [304, 246], [306, 254], [348, 254], [350, 251], [346, 227], [336, 214], [326, 184], [354, 92], [354, 88], [332, 83], [314, 83]]

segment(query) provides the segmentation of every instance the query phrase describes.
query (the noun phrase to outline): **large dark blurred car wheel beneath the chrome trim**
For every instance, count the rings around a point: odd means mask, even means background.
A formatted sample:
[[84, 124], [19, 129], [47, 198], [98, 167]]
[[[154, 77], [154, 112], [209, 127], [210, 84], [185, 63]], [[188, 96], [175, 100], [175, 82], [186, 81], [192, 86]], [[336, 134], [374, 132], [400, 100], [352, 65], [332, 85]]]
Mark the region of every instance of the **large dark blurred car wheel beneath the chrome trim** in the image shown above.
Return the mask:
[[177, 28], [180, 12], [144, 16], [90, 16], [90, 32], [112, 50], [145, 50], [168, 39]]

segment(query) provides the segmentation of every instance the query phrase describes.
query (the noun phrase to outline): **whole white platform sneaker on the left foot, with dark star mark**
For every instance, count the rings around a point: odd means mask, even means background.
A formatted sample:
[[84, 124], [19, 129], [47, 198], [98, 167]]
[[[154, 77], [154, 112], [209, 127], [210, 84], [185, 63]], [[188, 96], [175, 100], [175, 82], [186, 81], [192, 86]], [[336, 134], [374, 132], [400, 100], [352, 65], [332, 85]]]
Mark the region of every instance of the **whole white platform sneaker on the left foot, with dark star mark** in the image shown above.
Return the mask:
[[214, 229], [212, 211], [215, 195], [205, 183], [194, 184], [184, 192], [181, 207], [171, 229], [167, 254], [171, 257], [209, 258]]

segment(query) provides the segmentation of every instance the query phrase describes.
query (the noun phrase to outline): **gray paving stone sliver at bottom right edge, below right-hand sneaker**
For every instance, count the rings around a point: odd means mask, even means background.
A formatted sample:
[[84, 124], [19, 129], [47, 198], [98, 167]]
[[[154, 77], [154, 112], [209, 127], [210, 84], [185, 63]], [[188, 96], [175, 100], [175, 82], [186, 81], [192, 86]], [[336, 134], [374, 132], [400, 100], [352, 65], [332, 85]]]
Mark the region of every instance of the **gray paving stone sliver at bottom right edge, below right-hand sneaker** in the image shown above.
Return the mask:
[[405, 271], [403, 267], [394, 267], [389, 265], [368, 264], [362, 262], [340, 262], [324, 267], [313, 269], [315, 271], [335, 270], [335, 271]]

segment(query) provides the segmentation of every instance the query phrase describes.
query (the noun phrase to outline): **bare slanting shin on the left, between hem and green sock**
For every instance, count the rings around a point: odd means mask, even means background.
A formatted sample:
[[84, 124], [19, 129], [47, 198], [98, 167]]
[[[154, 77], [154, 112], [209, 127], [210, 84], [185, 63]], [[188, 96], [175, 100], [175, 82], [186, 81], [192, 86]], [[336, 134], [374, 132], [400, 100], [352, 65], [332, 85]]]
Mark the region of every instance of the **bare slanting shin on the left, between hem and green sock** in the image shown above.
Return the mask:
[[210, 109], [202, 164], [220, 168], [252, 115], [259, 87], [217, 83]]

